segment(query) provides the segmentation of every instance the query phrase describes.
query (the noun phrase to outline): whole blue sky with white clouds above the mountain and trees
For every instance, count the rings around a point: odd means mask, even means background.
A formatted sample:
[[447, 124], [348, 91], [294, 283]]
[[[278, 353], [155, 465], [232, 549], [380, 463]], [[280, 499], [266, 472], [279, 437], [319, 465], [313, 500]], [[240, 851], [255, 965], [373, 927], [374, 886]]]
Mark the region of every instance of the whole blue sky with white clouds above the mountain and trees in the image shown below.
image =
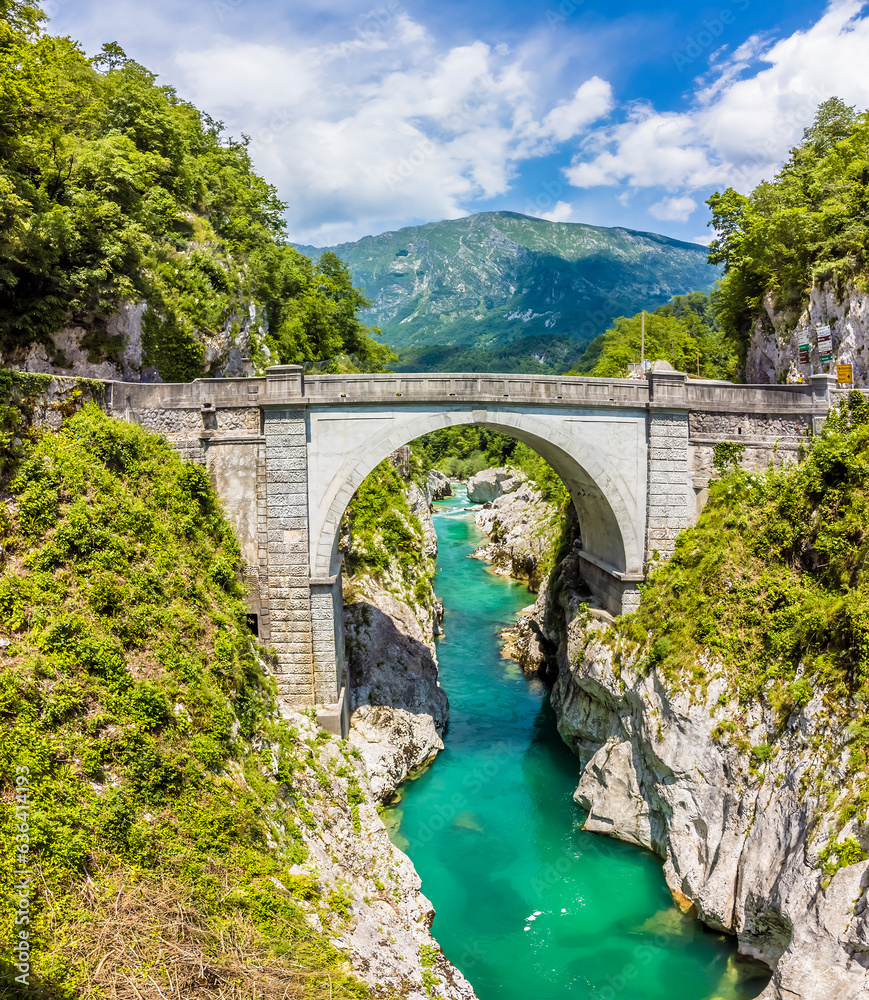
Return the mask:
[[869, 4], [47, 0], [235, 134], [322, 246], [506, 209], [705, 242], [817, 105], [869, 107]]

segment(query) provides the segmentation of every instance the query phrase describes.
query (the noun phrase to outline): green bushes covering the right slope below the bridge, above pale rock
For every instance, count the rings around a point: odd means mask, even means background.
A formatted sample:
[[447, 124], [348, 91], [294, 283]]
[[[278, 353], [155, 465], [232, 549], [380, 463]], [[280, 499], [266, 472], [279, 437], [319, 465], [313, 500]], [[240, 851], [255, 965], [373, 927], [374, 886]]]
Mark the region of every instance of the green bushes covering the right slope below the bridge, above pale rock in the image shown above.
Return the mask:
[[[621, 653], [642, 654], [641, 668], [695, 695], [723, 676], [737, 718], [760, 700], [783, 728], [817, 696], [819, 710], [859, 720], [869, 698], [867, 554], [869, 402], [855, 391], [799, 465], [749, 473], [731, 463], [710, 485], [696, 526], [620, 621]], [[738, 731], [732, 721], [716, 739]], [[857, 774], [869, 763], [869, 727], [855, 722], [845, 737]], [[774, 739], [748, 751], [757, 769]], [[839, 828], [867, 806], [858, 782], [839, 801]]]

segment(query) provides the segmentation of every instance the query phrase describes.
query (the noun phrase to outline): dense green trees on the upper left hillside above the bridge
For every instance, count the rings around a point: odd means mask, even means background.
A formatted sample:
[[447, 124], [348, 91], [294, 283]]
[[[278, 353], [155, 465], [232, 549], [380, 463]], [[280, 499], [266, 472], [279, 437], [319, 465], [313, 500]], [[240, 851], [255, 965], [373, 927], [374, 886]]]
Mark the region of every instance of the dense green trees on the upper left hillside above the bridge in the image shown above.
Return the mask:
[[284, 242], [284, 205], [253, 172], [246, 139], [226, 137], [116, 43], [88, 59], [42, 31], [37, 6], [0, 9], [4, 353], [53, 350], [50, 335], [74, 322], [93, 360], [117, 357], [106, 322], [120, 303], [144, 302], [145, 362], [164, 380], [205, 374], [206, 341], [243, 326], [259, 365], [350, 353], [380, 370], [392, 359], [359, 320], [368, 301], [345, 265], [331, 253], [315, 265]]

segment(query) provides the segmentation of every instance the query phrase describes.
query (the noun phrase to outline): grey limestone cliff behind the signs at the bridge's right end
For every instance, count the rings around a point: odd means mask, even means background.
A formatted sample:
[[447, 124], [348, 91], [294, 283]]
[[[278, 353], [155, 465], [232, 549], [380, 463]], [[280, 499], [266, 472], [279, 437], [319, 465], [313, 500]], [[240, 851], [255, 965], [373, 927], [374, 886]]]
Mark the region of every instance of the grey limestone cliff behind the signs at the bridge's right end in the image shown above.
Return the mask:
[[779, 309], [768, 295], [764, 312], [751, 332], [745, 381], [783, 382], [790, 365], [798, 361], [799, 345], [804, 343], [812, 348], [812, 371], [822, 371], [815, 334], [822, 325], [830, 327], [838, 361], [854, 366], [854, 384], [869, 385], [869, 293], [850, 283], [837, 288], [832, 283], [815, 282], [798, 316]]

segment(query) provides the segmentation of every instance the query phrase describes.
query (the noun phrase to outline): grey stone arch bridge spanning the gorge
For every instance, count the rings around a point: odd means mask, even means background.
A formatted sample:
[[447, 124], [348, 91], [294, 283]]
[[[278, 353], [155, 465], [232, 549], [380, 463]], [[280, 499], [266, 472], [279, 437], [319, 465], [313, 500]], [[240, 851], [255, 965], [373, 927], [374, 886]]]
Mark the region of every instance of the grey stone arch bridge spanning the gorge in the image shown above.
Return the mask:
[[[666, 367], [668, 370], [659, 371]], [[832, 376], [800, 386], [693, 380], [656, 365], [643, 380], [521, 375], [265, 376], [108, 385], [108, 409], [207, 466], [235, 524], [260, 638], [278, 687], [346, 728], [338, 533], [353, 493], [402, 445], [479, 424], [539, 452], [561, 476], [582, 532], [582, 571], [614, 614], [631, 610], [655, 553], [693, 523], [716, 443], [743, 464], [792, 456], [826, 416]]]

